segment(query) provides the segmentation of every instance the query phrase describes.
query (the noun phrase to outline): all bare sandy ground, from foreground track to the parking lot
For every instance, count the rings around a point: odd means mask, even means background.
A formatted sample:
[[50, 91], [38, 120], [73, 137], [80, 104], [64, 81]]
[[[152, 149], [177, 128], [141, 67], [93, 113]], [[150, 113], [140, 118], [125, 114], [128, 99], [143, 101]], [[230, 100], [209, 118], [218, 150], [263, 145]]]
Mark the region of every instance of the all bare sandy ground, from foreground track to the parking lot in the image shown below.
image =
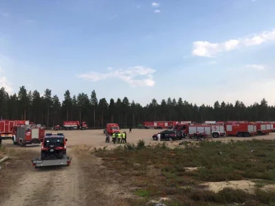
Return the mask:
[[[146, 144], [155, 144], [156, 141], [153, 141], [152, 135], [157, 133], [157, 131], [133, 129], [132, 133], [129, 133], [129, 130], [126, 130], [127, 142], [136, 143], [137, 140], [144, 139]], [[54, 133], [54, 131], [47, 130], [47, 133]], [[9, 163], [5, 163], [4, 167], [1, 165], [0, 177], [4, 176], [4, 178], [12, 179], [12, 181], [3, 183], [6, 189], [2, 191], [5, 193], [2, 195], [3, 198], [1, 198], [0, 193], [0, 205], [34, 206], [41, 203], [49, 206], [127, 205], [123, 202], [123, 198], [129, 198], [131, 195], [124, 192], [123, 182], [115, 179], [116, 174], [111, 174], [110, 171], [104, 170], [99, 162], [100, 160], [93, 157], [88, 150], [84, 155], [79, 155], [75, 151], [75, 148], [79, 148], [81, 145], [87, 145], [83, 148], [113, 146], [113, 143], [105, 142], [103, 130], [74, 130], [59, 131], [58, 133], [64, 133], [68, 139], [68, 155], [73, 157], [72, 164], [69, 167], [34, 169], [30, 160], [34, 154], [39, 155], [41, 146], [21, 148], [20, 146], [14, 146], [10, 139], [3, 140], [3, 145], [6, 148], [22, 152], [21, 158], [23, 158], [24, 163], [21, 163], [18, 168], [14, 168], [14, 173], [12, 174], [3, 173], [10, 171], [7, 166]], [[253, 138], [275, 139], [275, 134]], [[252, 139], [252, 137], [223, 137], [210, 139], [210, 141], [230, 141], [230, 139], [246, 140]], [[179, 142], [175, 141], [171, 144], [177, 145]], [[28, 155], [28, 152], [31, 152], [32, 155]], [[213, 186], [210, 185], [212, 190]], [[3, 185], [1, 187], [3, 189]], [[120, 197], [119, 199], [116, 198], [118, 196]]]

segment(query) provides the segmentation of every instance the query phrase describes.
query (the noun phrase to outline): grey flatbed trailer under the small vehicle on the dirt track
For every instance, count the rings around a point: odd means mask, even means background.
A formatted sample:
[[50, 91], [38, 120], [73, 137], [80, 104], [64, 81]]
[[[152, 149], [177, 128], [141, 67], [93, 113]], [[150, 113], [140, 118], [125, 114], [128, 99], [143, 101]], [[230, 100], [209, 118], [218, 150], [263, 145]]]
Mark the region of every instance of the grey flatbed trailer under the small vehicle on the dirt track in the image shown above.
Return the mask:
[[32, 161], [32, 166], [35, 168], [43, 168], [48, 166], [69, 166], [73, 158], [63, 155], [62, 159], [47, 158], [42, 160], [41, 157], [36, 157]]

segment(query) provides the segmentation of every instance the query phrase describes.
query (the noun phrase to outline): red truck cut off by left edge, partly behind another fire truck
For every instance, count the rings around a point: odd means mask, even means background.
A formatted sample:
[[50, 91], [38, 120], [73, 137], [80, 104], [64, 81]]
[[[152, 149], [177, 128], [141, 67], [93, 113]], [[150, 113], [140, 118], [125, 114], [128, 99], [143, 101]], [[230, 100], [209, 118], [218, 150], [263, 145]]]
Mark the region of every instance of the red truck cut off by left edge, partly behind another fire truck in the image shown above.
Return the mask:
[[12, 139], [12, 128], [17, 125], [29, 125], [29, 120], [0, 120], [0, 135], [2, 139]]

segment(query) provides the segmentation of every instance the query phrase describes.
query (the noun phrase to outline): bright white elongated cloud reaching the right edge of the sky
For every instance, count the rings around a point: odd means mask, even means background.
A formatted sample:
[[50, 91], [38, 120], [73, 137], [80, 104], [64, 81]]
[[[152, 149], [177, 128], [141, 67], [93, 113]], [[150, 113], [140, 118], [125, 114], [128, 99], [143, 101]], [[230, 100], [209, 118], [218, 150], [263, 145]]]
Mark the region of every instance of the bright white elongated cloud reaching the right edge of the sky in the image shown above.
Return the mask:
[[208, 41], [193, 42], [192, 55], [214, 57], [221, 52], [229, 52], [241, 47], [261, 45], [268, 41], [275, 41], [275, 30], [264, 31], [261, 34], [254, 34], [247, 38], [231, 39], [223, 43], [210, 43]]

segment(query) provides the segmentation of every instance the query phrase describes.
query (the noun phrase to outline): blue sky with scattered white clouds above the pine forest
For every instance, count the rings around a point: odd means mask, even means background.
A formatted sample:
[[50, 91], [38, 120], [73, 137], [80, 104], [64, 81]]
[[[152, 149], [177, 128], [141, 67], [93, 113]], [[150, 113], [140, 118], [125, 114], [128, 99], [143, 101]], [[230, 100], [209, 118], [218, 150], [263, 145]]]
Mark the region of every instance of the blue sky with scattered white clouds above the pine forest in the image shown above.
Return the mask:
[[1, 0], [0, 87], [275, 104], [274, 0]]

